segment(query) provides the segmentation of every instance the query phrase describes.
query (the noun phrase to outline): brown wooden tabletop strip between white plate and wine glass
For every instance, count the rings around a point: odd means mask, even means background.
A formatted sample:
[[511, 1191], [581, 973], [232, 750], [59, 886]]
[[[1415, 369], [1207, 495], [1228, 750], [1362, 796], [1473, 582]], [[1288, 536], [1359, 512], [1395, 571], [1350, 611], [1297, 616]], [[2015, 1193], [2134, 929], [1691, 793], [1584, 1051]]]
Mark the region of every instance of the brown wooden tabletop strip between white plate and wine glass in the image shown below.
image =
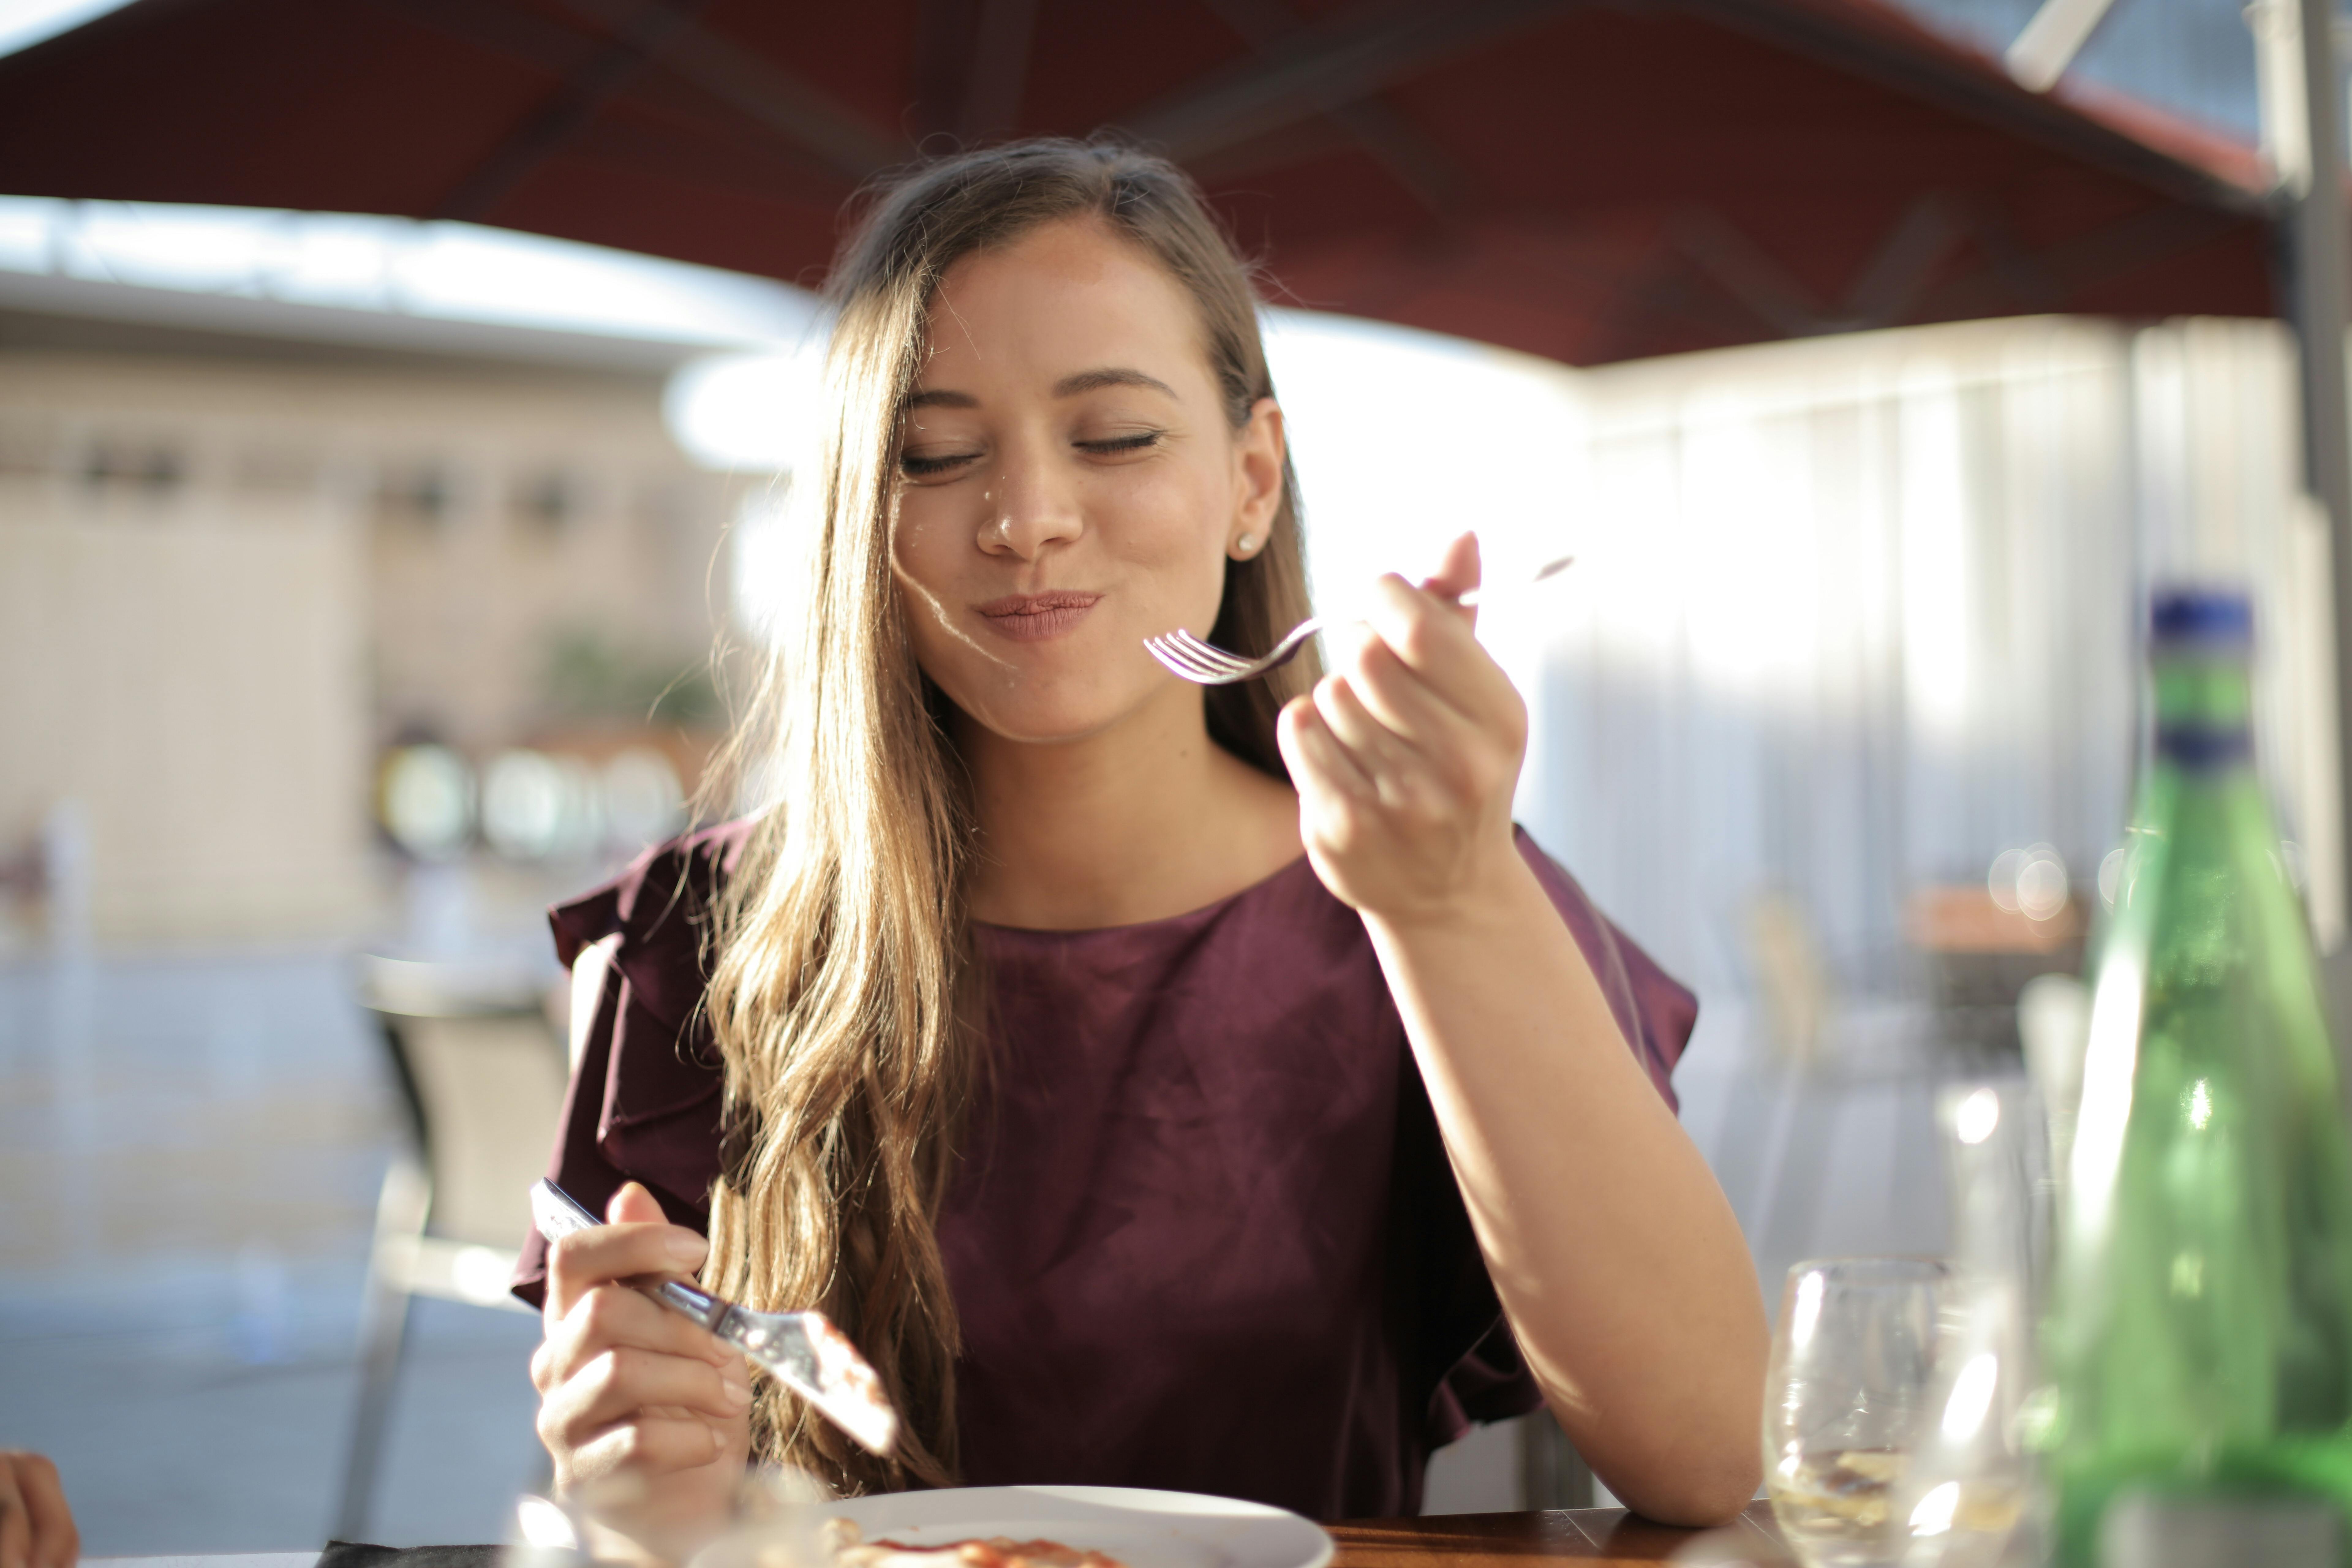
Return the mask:
[[1663, 1563], [1677, 1552], [1708, 1563], [1788, 1563], [1769, 1502], [1724, 1530], [1677, 1530], [1625, 1509], [1550, 1509], [1538, 1514], [1437, 1514], [1367, 1519], [1331, 1526], [1334, 1568], [1529, 1568], [1524, 1559], [1578, 1563]]

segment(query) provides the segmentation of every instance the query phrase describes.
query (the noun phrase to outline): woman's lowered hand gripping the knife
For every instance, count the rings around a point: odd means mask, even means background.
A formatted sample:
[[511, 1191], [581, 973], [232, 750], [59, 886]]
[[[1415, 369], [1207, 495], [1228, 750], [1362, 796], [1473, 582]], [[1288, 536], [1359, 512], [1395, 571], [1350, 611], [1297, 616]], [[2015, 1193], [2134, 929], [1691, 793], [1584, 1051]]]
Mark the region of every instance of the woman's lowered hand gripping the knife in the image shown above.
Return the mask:
[[546, 1340], [532, 1356], [555, 1488], [623, 1542], [677, 1559], [727, 1519], [750, 1460], [750, 1368], [623, 1281], [691, 1279], [708, 1244], [637, 1182], [609, 1225], [548, 1246]]

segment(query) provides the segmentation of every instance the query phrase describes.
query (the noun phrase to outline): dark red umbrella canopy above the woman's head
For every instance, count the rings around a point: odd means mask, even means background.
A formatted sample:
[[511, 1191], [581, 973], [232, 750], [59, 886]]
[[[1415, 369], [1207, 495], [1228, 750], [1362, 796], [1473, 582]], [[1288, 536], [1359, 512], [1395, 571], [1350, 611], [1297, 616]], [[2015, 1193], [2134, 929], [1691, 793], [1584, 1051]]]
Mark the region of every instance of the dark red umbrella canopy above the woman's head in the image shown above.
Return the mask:
[[0, 61], [0, 190], [473, 219], [816, 282], [861, 181], [1167, 150], [1279, 296], [1571, 364], [2270, 315], [2251, 150], [1882, 0], [139, 0]]

